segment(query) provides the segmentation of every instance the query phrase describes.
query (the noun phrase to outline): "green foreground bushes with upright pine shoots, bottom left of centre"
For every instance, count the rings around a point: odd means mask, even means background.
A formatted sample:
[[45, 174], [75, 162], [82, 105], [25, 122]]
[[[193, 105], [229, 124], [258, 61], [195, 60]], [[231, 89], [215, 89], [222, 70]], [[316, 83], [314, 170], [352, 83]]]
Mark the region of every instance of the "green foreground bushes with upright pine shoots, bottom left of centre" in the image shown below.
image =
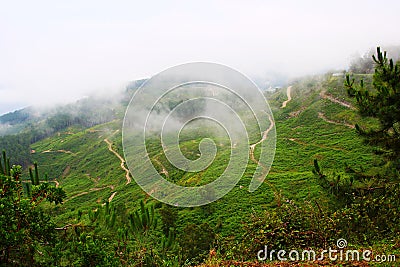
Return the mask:
[[[61, 266], [180, 266], [179, 246], [171, 231], [156, 229], [153, 206], [139, 203], [131, 225], [123, 207], [106, 202], [86, 214], [78, 212], [78, 223], [64, 231], [52, 257]], [[151, 211], [153, 210], [153, 212]]]

